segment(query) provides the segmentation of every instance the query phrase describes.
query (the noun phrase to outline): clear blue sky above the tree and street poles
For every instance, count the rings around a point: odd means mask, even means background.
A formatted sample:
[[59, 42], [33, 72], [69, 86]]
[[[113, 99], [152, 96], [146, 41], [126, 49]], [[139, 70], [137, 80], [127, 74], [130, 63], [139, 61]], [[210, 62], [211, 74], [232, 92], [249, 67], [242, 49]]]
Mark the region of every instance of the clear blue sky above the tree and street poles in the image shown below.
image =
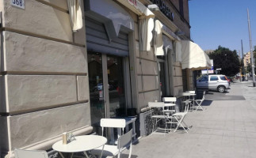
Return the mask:
[[250, 11], [252, 45], [256, 45], [256, 0], [190, 0], [189, 22], [191, 39], [204, 51], [218, 46], [231, 51], [250, 51], [247, 24]]

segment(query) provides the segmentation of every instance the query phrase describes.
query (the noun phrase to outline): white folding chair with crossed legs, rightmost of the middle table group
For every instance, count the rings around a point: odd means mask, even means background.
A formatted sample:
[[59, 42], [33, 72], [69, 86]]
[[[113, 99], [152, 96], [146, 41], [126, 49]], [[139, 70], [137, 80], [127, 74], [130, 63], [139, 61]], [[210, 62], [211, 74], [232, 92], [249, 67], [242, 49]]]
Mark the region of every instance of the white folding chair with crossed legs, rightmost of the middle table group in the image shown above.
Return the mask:
[[177, 121], [177, 126], [176, 126], [176, 129], [174, 130], [174, 132], [176, 132], [176, 130], [178, 130], [178, 127], [181, 126], [183, 128], [183, 130], [185, 130], [185, 132], [188, 133], [188, 131], [185, 129], [185, 127], [189, 130], [189, 126], [187, 126], [184, 121], [185, 115], [187, 115], [188, 111], [189, 111], [189, 100], [186, 100], [185, 101], [185, 111], [177, 112], [174, 115], [172, 115], [172, 117], [174, 117], [175, 121]]

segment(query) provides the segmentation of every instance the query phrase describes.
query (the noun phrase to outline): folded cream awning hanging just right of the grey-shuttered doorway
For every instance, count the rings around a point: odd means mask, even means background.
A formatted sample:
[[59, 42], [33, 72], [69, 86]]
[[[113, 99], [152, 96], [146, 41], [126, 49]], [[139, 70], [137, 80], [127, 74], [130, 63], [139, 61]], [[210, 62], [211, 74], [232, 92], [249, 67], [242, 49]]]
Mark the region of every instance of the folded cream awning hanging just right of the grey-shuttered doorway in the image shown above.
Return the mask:
[[154, 29], [155, 14], [149, 9], [143, 11], [143, 16], [139, 17], [140, 31], [140, 51], [151, 51], [151, 40], [153, 38], [152, 31]]

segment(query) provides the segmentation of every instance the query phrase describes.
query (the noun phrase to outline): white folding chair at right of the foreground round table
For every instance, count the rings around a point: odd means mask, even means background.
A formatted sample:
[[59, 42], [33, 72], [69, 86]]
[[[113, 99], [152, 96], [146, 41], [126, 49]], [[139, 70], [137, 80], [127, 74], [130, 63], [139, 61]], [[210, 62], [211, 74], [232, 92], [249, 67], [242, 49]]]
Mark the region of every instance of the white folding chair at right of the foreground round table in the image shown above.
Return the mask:
[[[121, 152], [129, 146], [129, 158], [132, 156], [132, 130], [121, 135], [117, 140], [117, 145], [105, 145], [102, 156], [118, 156], [120, 158]], [[97, 148], [91, 151], [94, 155], [100, 155], [102, 149]]]

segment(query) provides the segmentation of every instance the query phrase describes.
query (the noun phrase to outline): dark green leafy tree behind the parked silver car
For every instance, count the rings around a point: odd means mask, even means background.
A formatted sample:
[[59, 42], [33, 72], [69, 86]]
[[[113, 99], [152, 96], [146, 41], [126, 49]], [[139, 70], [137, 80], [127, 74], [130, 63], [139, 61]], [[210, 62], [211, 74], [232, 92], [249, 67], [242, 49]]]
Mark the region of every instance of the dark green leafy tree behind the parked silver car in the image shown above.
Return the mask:
[[220, 73], [227, 76], [234, 76], [239, 73], [240, 60], [237, 52], [231, 51], [226, 47], [219, 46], [218, 49], [209, 54], [209, 58], [213, 59], [214, 68], [221, 68]]

